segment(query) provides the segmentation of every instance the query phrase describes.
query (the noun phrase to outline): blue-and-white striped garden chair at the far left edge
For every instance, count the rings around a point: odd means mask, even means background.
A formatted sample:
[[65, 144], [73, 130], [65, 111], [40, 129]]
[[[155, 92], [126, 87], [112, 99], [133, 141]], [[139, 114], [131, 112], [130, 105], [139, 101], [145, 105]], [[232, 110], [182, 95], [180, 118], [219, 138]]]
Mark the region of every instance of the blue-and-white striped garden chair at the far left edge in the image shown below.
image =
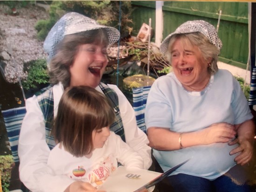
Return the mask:
[[7, 137], [9, 139], [9, 143], [11, 146], [12, 155], [14, 158], [15, 166], [12, 169], [11, 180], [9, 190], [12, 192], [26, 192], [26, 187], [21, 183], [19, 178], [19, 165], [20, 160], [18, 156], [18, 142], [19, 142], [19, 135], [21, 130], [21, 123], [23, 118], [26, 114], [25, 107], [18, 107], [9, 110], [2, 110], [2, 115], [4, 118], [6, 130], [7, 130]]

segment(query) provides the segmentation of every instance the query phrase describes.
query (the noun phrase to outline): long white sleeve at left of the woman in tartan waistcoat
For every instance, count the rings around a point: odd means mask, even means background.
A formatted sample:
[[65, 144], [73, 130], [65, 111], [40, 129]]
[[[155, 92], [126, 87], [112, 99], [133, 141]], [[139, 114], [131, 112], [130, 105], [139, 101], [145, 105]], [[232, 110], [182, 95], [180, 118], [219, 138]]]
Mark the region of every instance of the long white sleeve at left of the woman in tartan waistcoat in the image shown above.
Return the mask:
[[[26, 109], [18, 145], [20, 179], [33, 192], [49, 192], [52, 186], [64, 191], [74, 181], [55, 176], [47, 167], [50, 149], [45, 140], [44, 117], [35, 96], [27, 99]], [[44, 171], [38, 174], [39, 170]]]

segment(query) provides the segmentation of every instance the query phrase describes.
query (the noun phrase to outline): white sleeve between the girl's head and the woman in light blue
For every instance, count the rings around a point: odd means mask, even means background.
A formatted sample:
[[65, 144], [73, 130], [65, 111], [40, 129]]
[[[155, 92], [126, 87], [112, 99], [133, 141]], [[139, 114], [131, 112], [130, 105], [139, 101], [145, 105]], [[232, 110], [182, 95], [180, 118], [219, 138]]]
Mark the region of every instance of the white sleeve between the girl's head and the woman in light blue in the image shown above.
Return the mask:
[[136, 123], [135, 112], [125, 97], [125, 95], [118, 89], [116, 85], [108, 86], [118, 94], [119, 109], [122, 117], [125, 142], [144, 160], [144, 169], [148, 169], [152, 164], [151, 147], [148, 146], [149, 141], [146, 134], [140, 130]]

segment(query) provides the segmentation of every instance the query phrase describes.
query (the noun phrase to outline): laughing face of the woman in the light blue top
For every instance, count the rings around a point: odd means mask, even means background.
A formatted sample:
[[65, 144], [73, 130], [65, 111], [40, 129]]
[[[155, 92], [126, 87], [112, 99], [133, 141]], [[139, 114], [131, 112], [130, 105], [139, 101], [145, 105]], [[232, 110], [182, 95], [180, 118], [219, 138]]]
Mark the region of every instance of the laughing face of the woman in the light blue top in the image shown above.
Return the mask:
[[198, 85], [209, 75], [207, 61], [198, 47], [177, 39], [171, 48], [173, 72], [178, 80], [185, 85]]

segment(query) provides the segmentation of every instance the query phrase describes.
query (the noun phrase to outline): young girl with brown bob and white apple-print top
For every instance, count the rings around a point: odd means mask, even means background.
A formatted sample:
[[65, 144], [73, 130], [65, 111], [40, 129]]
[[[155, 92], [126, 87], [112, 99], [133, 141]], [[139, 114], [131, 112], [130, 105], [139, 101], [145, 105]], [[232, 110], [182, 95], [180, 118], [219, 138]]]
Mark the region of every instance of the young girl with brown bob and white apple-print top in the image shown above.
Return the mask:
[[143, 159], [109, 130], [115, 113], [108, 98], [85, 87], [67, 88], [58, 107], [52, 134], [58, 143], [49, 154], [54, 175], [97, 187], [124, 166], [143, 169]]

